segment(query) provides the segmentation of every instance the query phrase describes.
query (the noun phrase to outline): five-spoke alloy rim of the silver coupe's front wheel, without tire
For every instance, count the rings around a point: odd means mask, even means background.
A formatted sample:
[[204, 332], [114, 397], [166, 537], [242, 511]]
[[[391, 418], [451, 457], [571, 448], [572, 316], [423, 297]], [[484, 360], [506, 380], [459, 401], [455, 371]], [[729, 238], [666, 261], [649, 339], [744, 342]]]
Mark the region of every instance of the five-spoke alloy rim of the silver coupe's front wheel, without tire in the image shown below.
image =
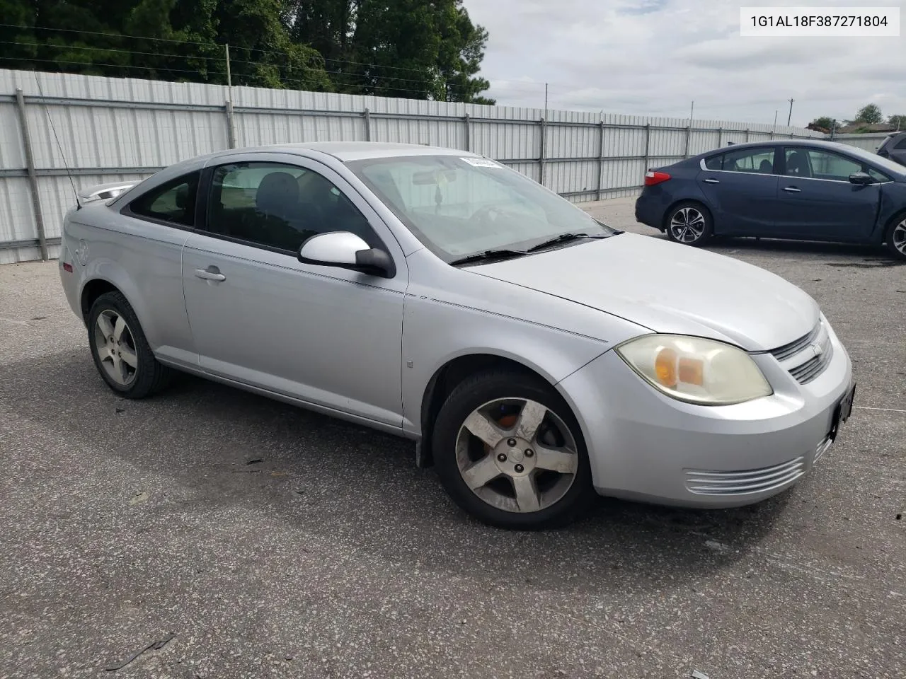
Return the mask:
[[563, 499], [579, 454], [569, 427], [526, 398], [497, 398], [459, 427], [456, 461], [481, 500], [506, 512], [539, 512]]

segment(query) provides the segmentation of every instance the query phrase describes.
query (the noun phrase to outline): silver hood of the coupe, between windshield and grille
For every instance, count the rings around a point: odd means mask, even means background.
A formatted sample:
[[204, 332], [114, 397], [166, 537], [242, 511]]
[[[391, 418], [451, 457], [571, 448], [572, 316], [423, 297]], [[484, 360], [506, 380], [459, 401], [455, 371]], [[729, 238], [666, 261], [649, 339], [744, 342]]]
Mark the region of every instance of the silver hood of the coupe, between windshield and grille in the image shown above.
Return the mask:
[[818, 322], [793, 283], [721, 254], [636, 234], [467, 269], [575, 301], [655, 332], [776, 349]]

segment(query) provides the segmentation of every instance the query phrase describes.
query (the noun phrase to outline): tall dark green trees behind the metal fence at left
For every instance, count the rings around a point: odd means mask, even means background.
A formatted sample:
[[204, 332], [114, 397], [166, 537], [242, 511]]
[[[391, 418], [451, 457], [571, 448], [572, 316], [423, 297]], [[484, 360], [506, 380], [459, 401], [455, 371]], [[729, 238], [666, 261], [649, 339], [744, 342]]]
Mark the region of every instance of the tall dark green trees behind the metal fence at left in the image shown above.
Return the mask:
[[[0, 0], [0, 68], [494, 103], [462, 0]], [[43, 30], [55, 29], [69, 30]]]

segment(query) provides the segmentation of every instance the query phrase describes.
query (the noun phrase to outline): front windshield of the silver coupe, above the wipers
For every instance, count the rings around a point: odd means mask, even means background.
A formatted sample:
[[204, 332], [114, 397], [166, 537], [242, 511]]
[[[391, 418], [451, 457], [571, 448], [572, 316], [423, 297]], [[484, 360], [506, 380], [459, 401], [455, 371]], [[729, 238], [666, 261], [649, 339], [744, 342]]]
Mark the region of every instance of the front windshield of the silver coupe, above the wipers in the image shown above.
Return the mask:
[[525, 250], [560, 234], [616, 233], [487, 158], [405, 156], [347, 165], [446, 262], [488, 250]]

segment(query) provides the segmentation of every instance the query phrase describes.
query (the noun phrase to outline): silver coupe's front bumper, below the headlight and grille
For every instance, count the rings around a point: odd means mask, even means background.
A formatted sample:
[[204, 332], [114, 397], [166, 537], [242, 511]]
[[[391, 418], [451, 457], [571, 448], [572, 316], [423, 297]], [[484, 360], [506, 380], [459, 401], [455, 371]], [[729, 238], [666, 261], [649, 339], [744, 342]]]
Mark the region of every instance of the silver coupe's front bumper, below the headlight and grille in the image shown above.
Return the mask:
[[595, 490], [689, 507], [736, 507], [781, 493], [831, 442], [852, 364], [834, 354], [799, 384], [770, 354], [753, 357], [775, 389], [735, 406], [695, 406], [662, 395], [608, 351], [558, 385], [583, 429]]

